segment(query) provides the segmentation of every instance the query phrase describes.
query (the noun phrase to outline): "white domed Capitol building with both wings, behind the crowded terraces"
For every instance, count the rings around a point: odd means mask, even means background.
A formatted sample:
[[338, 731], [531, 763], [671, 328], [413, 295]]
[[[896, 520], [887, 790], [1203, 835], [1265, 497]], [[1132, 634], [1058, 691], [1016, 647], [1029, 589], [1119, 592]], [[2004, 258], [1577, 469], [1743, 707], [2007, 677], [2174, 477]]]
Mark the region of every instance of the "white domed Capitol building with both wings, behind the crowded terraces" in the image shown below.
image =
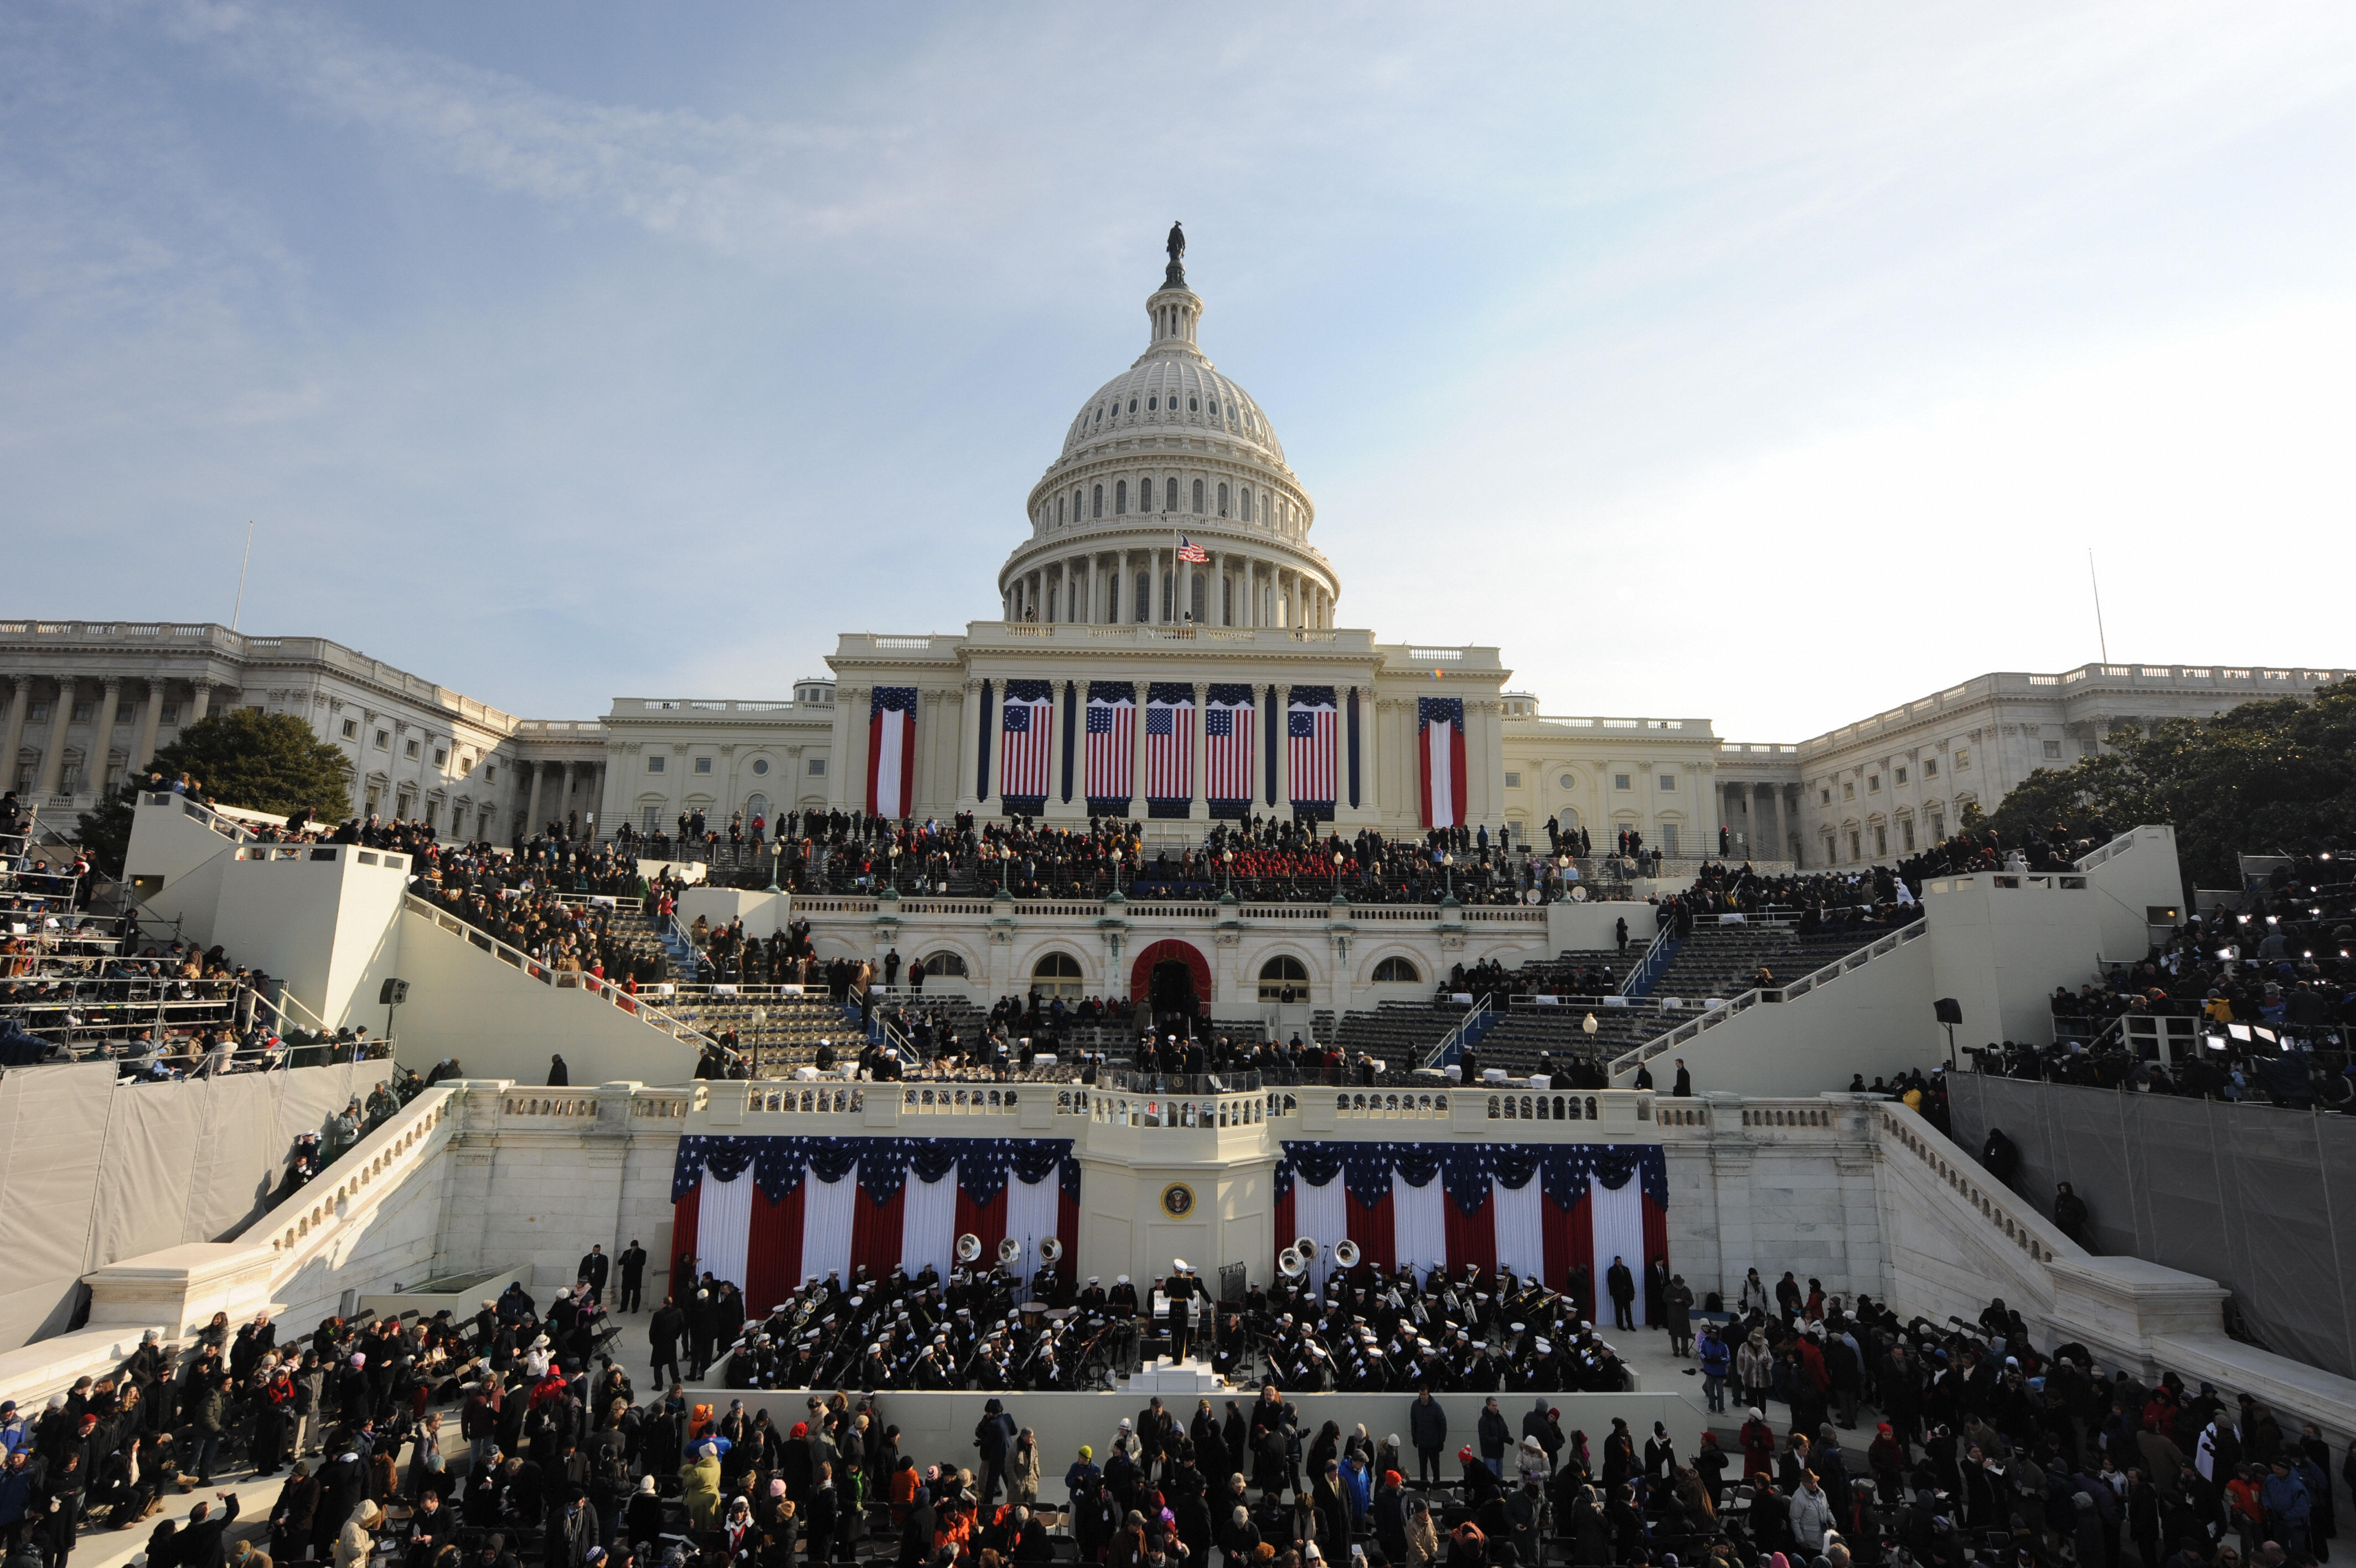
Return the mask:
[[[997, 620], [961, 637], [843, 634], [825, 677], [744, 696], [620, 696], [598, 719], [518, 719], [320, 637], [219, 625], [0, 620], [7, 783], [52, 813], [87, 809], [212, 707], [292, 712], [351, 757], [353, 813], [424, 818], [504, 842], [551, 818], [598, 835], [704, 813], [872, 811], [876, 693], [914, 717], [907, 811], [1008, 813], [1008, 691], [1046, 691], [1046, 778], [1013, 806], [1048, 823], [1088, 809], [1091, 693], [1129, 691], [1140, 722], [1131, 806], [1162, 842], [1218, 816], [1293, 816], [1343, 835], [1409, 835], [1428, 802], [1430, 703], [1461, 733], [1463, 792], [1440, 821], [1621, 828], [1675, 858], [1807, 870], [1892, 863], [1993, 811], [2040, 766], [2092, 755], [2120, 724], [2208, 717], [2311, 691], [2344, 670], [2083, 665], [1991, 672], [1800, 740], [1720, 736], [1708, 717], [1550, 712], [1489, 646], [1385, 641], [1350, 627], [1341, 571], [1312, 542], [1317, 505], [1270, 415], [1202, 347], [1206, 304], [1180, 262], [1145, 299], [1143, 354], [1072, 415], [1025, 498], [997, 575]], [[1164, 698], [1154, 698], [1154, 691]], [[1218, 700], [1213, 700], [1218, 689]], [[1185, 698], [1178, 703], [1176, 698]], [[1282, 740], [1310, 696], [1331, 712], [1326, 773], [1291, 778]], [[1037, 703], [1039, 698], [1030, 698]], [[1194, 729], [1192, 778], [1147, 799], [1147, 703]], [[1103, 703], [1100, 703], [1103, 705]], [[898, 712], [898, 710], [895, 710]], [[1251, 790], [1213, 799], [1206, 726], [1249, 731]], [[1425, 750], [1418, 750], [1425, 747]], [[886, 802], [886, 813], [895, 813]], [[1100, 799], [1110, 806], [1112, 802]]]

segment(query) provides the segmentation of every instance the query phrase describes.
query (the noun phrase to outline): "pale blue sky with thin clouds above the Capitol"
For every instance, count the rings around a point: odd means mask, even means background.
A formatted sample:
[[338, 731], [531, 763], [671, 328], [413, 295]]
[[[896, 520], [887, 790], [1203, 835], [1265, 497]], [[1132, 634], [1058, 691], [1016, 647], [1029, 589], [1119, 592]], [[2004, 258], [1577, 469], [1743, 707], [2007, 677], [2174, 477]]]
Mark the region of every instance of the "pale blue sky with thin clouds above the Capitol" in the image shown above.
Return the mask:
[[1791, 740], [2356, 663], [2356, 9], [0, 12], [7, 608], [530, 717], [994, 615], [1183, 217], [1341, 620]]

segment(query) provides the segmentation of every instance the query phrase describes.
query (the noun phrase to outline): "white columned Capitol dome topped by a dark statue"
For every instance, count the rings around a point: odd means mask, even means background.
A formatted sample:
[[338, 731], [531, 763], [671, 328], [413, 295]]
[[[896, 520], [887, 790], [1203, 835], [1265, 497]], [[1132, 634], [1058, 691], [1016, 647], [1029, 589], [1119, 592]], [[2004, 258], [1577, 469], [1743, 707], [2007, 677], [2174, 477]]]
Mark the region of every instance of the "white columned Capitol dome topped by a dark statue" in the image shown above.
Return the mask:
[[[1183, 248], [1180, 248], [1183, 250]], [[1341, 582], [1268, 413], [1220, 375], [1173, 259], [1145, 351], [1096, 389], [1030, 493], [999, 571], [1008, 620], [1329, 627]], [[1176, 559], [1176, 535], [1209, 559]]]

